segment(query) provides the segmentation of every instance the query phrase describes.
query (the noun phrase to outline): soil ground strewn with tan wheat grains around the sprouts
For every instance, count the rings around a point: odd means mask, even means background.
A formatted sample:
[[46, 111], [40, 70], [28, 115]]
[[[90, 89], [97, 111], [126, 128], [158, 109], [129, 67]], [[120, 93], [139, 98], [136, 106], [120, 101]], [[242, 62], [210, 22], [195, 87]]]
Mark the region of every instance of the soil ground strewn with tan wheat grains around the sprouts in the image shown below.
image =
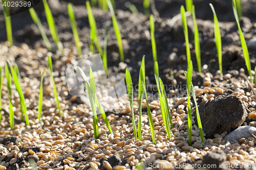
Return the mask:
[[[135, 4], [140, 12], [143, 12], [142, 1], [130, 1]], [[199, 75], [197, 71], [196, 56], [194, 53], [194, 25], [193, 20], [188, 17], [189, 42], [191, 43], [191, 57], [194, 64], [193, 84], [198, 94], [198, 104], [202, 101], [211, 100], [214, 96], [220, 94], [238, 95], [248, 107], [250, 116], [243, 125], [255, 126], [251, 123], [256, 120], [254, 107], [256, 105], [253, 93], [248, 83], [241, 75], [247, 74], [244, 62], [240, 38], [230, 1], [194, 1], [196, 7], [196, 16], [198, 17], [198, 27], [201, 37], [201, 58], [204, 66], [204, 74]], [[73, 2], [75, 15], [78, 24], [80, 40], [83, 43], [82, 49], [84, 56], [91, 55], [89, 52], [90, 27], [86, 6], [80, 1]], [[80, 4], [79, 4], [80, 3]], [[216, 71], [218, 68], [218, 58], [216, 56], [216, 47], [214, 41], [214, 23], [212, 22], [212, 13], [208, 3], [215, 6], [217, 16], [220, 22], [223, 47], [223, 71], [224, 78], [221, 79]], [[200, 141], [199, 129], [193, 126], [193, 147], [188, 147], [187, 141], [187, 102], [186, 91], [181, 88], [186, 82], [184, 71], [186, 70], [186, 52], [184, 45], [184, 35], [181, 20], [175, 20], [179, 14], [180, 6], [184, 5], [181, 1], [155, 1], [156, 10], [160, 17], [155, 17], [158, 63], [160, 77], [168, 87], [167, 92], [178, 98], [169, 99], [170, 110], [174, 127], [172, 129], [172, 138], [168, 139], [164, 128], [161, 111], [159, 110], [159, 101], [151, 101], [153, 120], [157, 143], [152, 143], [152, 135], [148, 123], [147, 113], [142, 116], [142, 140], [135, 140], [132, 119], [129, 110], [129, 101], [122, 101], [122, 105], [116, 112], [108, 112], [108, 119], [113, 126], [114, 135], [110, 134], [103, 119], [99, 116], [100, 138], [94, 139], [92, 126], [92, 112], [90, 107], [85, 104], [77, 104], [79, 101], [72, 98], [68, 93], [66, 85], [65, 69], [74, 62], [76, 58], [76, 47], [70, 23], [68, 20], [67, 3], [65, 1], [49, 1], [50, 8], [56, 20], [60, 41], [63, 43], [64, 55], [58, 56], [55, 53], [48, 53], [44, 42], [41, 39], [38, 29], [34, 25], [29, 12], [24, 12], [12, 16], [12, 26], [15, 46], [8, 49], [6, 41], [6, 31], [3, 15], [0, 15], [0, 65], [9, 59], [12, 65], [17, 63], [22, 76], [21, 84], [25, 93], [26, 104], [30, 116], [30, 126], [20, 123], [21, 117], [18, 94], [13, 87], [13, 105], [15, 107], [15, 130], [10, 131], [8, 119], [8, 93], [6, 79], [3, 85], [3, 108], [7, 112], [2, 115], [1, 138], [0, 142], [0, 161], [1, 165], [8, 169], [27, 168], [31, 169], [36, 162], [40, 169], [87, 169], [92, 168], [112, 168], [114, 169], [132, 169], [135, 164], [141, 160], [148, 169], [149, 163], [164, 164], [166, 161], [172, 164], [188, 162], [190, 164], [207, 164], [207, 157], [204, 157], [211, 151], [222, 150], [225, 154], [220, 154], [219, 162], [228, 163], [255, 163], [256, 141], [253, 138], [239, 139], [239, 141], [225, 141], [223, 137], [228, 132], [215, 135], [214, 139], [207, 139], [205, 145]], [[244, 18], [241, 19], [242, 30], [246, 41], [255, 36], [255, 2], [243, 1]], [[148, 38], [147, 31], [150, 30], [148, 17], [142, 13], [138, 15], [131, 14], [123, 1], [116, 4], [116, 16], [122, 34], [125, 61], [120, 63], [118, 54], [118, 45], [114, 30], [110, 28], [108, 36], [108, 64], [110, 71], [124, 72], [126, 66], [129, 67], [134, 84], [137, 84], [138, 71], [142, 56], [145, 55], [147, 84], [155, 84], [153, 57], [151, 40]], [[36, 7], [36, 11], [45, 27], [47, 35], [50, 38], [50, 31], [46, 23], [46, 17], [42, 4]], [[110, 12], [104, 12], [99, 9], [93, 10], [100, 37], [100, 44], [103, 45], [103, 35], [105, 26], [111, 24]], [[179, 17], [179, 16], [177, 16]], [[177, 18], [176, 17], [176, 18]], [[26, 44], [25, 44], [25, 43]], [[169, 60], [169, 56], [176, 53], [177, 57]], [[256, 52], [249, 50], [251, 66], [255, 66]], [[54, 94], [50, 84], [49, 72], [47, 70], [48, 55], [52, 56], [55, 83], [58, 90], [62, 116], [58, 116]], [[173, 54], [173, 56], [175, 56]], [[174, 80], [170, 78], [169, 70], [174, 69]], [[241, 68], [244, 68], [240, 70]], [[39, 84], [42, 71], [46, 69], [47, 73], [44, 80], [44, 102], [41, 123], [38, 123], [37, 105]], [[245, 70], [245, 71], [244, 71]], [[229, 74], [228, 74], [229, 73]], [[213, 76], [212, 76], [213, 75]], [[174, 85], [174, 86], [173, 86]], [[202, 90], [203, 89], [203, 90]], [[135, 99], [135, 105], [137, 102]], [[136, 108], [135, 106], [135, 108]], [[231, 109], [231, 108], [230, 108]], [[143, 111], [146, 111], [144, 108]], [[136, 122], [138, 122], [138, 111], [135, 110]], [[194, 116], [194, 115], [193, 115]], [[193, 117], [195, 119], [195, 117]], [[195, 121], [194, 121], [195, 122]], [[138, 124], [136, 125], [138, 126]], [[16, 137], [13, 143], [6, 143], [6, 136]], [[15, 141], [15, 142], [14, 142]], [[28, 148], [27, 148], [28, 147]], [[32, 148], [31, 148], [32, 147]], [[34, 154], [35, 153], [35, 154]], [[120, 157], [113, 154], [119, 154]], [[34, 162], [29, 161], [29, 157]], [[39, 158], [38, 158], [39, 157]], [[209, 155], [208, 155], [209, 157]], [[214, 156], [213, 156], [214, 157]], [[218, 156], [217, 156], [218, 157]], [[108, 159], [109, 158], [109, 159]], [[110, 159], [111, 158], [111, 159]], [[107, 159], [108, 163], [103, 162]], [[38, 161], [39, 160], [39, 161]], [[212, 159], [211, 159], [212, 160]], [[217, 162], [218, 162], [217, 161]], [[0, 165], [1, 168], [3, 168]], [[104, 165], [104, 166], [103, 166]], [[116, 167], [118, 165], [118, 167]], [[17, 168], [17, 169], [18, 169]], [[240, 167], [238, 167], [239, 169]], [[242, 169], [242, 168], [241, 168]]]

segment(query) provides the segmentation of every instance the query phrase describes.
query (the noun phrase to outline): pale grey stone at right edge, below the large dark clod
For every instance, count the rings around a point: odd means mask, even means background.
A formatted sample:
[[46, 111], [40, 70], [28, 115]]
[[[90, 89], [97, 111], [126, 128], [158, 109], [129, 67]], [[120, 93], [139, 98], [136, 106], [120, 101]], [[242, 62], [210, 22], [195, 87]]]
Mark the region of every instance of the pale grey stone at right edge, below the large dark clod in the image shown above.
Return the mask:
[[243, 137], [247, 139], [251, 137], [251, 135], [249, 135], [247, 132], [251, 132], [252, 134], [256, 135], [256, 128], [252, 126], [241, 126], [225, 136], [224, 140], [233, 141], [239, 140]]

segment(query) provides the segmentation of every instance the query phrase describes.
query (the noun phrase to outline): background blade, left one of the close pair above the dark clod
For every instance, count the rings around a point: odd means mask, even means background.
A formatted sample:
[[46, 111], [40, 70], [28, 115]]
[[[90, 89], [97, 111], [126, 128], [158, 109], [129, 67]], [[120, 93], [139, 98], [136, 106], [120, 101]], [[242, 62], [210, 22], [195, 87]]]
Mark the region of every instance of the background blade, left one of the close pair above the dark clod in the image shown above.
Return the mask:
[[182, 18], [182, 26], [183, 26], [184, 36], [185, 36], [185, 42], [186, 42], [187, 65], [188, 65], [189, 61], [191, 60], [191, 54], [190, 54], [189, 41], [188, 41], [187, 19], [186, 19], [185, 9], [183, 5], [180, 8], [180, 13]]

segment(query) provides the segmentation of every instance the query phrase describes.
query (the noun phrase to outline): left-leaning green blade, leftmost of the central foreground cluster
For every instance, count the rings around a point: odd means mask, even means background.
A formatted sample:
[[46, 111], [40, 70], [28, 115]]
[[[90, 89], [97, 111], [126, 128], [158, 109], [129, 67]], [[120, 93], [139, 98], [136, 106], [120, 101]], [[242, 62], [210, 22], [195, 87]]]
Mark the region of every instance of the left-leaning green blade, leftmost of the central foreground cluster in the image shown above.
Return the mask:
[[134, 132], [134, 137], [136, 140], [137, 139], [137, 131], [136, 131], [136, 126], [135, 126], [134, 108], [133, 108], [133, 82], [132, 82], [132, 77], [131, 77], [131, 74], [130, 74], [130, 71], [128, 68], [126, 68], [125, 78], [126, 78], [126, 85], [127, 85], [130, 106], [131, 106], [131, 113], [132, 113], [132, 120], [133, 120], [133, 132]]

